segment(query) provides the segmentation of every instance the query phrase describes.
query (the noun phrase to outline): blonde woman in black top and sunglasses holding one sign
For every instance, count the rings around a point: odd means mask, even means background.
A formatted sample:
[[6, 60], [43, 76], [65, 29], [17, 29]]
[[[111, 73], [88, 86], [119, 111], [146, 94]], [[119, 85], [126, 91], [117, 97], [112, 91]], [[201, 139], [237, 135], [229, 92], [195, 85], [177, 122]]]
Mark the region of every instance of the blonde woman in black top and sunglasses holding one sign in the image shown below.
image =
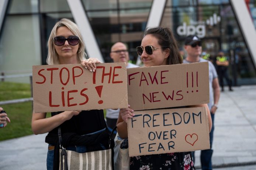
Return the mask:
[[[77, 25], [69, 19], [61, 19], [52, 29], [48, 40], [47, 63], [80, 64], [84, 53], [83, 37]], [[97, 59], [87, 60], [87, 64], [95, 64]], [[98, 151], [108, 148], [108, 130], [103, 110], [52, 112], [32, 115], [32, 131], [34, 134], [48, 133], [45, 142], [49, 144], [47, 153], [47, 169], [59, 169], [58, 127], [62, 132], [62, 144], [68, 150], [79, 153]]]

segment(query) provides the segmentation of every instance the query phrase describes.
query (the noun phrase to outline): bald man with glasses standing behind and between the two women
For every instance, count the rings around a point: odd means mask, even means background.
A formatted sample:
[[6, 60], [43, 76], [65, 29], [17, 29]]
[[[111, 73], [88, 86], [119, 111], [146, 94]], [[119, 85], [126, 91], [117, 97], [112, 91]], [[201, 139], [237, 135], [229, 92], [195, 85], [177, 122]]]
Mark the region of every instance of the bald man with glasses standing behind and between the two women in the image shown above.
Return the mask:
[[[113, 59], [114, 62], [126, 62], [126, 68], [138, 67], [135, 64], [129, 63], [129, 53], [124, 43], [115, 43], [111, 47], [110, 57]], [[120, 109], [107, 109], [107, 125], [111, 129], [116, 126], [119, 110]]]

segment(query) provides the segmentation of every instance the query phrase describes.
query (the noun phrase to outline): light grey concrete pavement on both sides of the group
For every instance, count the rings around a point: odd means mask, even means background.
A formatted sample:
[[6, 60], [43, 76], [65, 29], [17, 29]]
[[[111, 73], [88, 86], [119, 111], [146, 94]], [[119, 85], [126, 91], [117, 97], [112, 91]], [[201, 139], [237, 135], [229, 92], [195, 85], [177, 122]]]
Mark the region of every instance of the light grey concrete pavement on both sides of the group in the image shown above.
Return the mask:
[[[256, 86], [226, 88], [215, 115], [212, 163], [219, 170], [256, 170]], [[46, 134], [0, 142], [1, 170], [45, 170]], [[200, 169], [200, 151], [195, 166]], [[222, 167], [222, 168], [221, 168]]]

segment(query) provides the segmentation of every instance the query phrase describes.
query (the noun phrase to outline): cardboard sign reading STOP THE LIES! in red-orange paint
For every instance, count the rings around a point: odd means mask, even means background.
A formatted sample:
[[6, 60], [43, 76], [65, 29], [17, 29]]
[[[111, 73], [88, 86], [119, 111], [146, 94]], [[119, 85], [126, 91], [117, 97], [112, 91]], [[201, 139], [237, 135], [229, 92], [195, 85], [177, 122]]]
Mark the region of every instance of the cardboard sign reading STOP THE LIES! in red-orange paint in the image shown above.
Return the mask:
[[127, 108], [125, 63], [33, 66], [34, 110], [38, 112]]

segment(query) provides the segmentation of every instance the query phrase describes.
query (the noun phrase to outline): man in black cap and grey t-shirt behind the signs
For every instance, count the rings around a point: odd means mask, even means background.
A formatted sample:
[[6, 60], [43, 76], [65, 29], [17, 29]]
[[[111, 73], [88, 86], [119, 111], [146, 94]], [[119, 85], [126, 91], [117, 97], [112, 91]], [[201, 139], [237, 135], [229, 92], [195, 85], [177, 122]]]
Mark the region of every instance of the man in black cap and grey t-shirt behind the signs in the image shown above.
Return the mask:
[[[184, 49], [187, 52], [187, 57], [183, 60], [183, 63], [192, 62], [208, 62], [209, 63], [209, 90], [210, 90], [210, 103], [208, 107], [211, 111], [212, 129], [210, 132], [210, 149], [201, 151], [201, 167], [202, 170], [212, 170], [212, 140], [214, 131], [214, 114], [217, 110], [220, 88], [216, 69], [212, 62], [207, 61], [200, 57], [202, 53], [202, 41], [197, 36], [187, 36], [185, 39]], [[193, 156], [194, 157], [194, 156]]]

